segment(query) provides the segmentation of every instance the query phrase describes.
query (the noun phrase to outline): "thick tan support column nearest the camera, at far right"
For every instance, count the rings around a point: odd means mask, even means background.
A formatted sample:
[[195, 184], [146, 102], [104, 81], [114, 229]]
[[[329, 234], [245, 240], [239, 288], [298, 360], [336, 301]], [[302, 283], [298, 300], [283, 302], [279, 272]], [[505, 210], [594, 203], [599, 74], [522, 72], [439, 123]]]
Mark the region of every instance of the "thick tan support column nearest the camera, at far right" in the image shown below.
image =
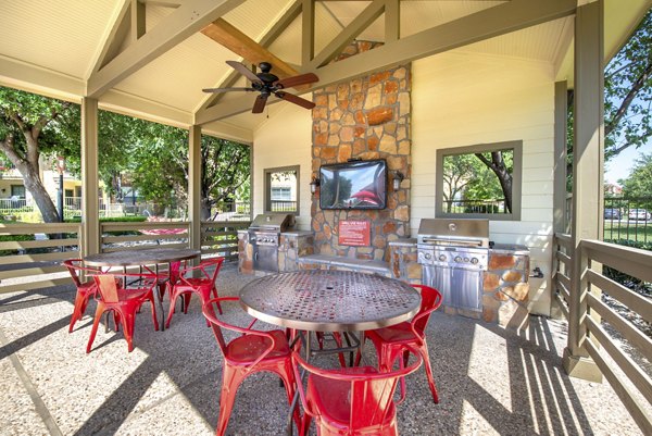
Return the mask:
[[573, 146], [573, 269], [568, 313], [568, 345], [564, 369], [572, 376], [594, 382], [602, 374], [588, 357], [585, 341], [590, 291], [587, 271], [591, 267], [582, 253], [582, 239], [602, 235], [604, 163], [604, 50], [603, 1], [577, 8], [575, 16], [575, 128]]

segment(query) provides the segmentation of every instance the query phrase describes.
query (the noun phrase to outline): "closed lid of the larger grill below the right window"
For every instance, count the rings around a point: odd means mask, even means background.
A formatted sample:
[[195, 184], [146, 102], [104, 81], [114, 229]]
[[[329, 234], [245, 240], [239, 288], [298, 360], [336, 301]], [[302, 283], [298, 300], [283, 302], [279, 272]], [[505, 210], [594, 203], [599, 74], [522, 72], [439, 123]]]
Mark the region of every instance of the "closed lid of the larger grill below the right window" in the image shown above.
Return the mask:
[[489, 220], [423, 219], [417, 244], [489, 247]]

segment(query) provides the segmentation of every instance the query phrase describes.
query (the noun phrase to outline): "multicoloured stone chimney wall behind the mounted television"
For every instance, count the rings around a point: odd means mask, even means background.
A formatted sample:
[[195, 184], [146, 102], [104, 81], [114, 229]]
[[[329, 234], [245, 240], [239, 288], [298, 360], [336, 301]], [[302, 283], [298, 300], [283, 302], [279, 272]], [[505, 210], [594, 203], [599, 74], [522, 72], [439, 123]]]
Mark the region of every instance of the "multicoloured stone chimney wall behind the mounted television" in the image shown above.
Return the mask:
[[[338, 60], [374, 47], [372, 42], [354, 42]], [[349, 159], [386, 159], [389, 172], [385, 210], [323, 211], [318, 191], [313, 196], [311, 217], [316, 253], [388, 262], [388, 241], [409, 236], [410, 75], [410, 67], [401, 65], [314, 91], [313, 175], [318, 174], [321, 165]], [[394, 171], [405, 176], [396, 191], [392, 189]], [[338, 245], [340, 220], [371, 221], [371, 246]]]

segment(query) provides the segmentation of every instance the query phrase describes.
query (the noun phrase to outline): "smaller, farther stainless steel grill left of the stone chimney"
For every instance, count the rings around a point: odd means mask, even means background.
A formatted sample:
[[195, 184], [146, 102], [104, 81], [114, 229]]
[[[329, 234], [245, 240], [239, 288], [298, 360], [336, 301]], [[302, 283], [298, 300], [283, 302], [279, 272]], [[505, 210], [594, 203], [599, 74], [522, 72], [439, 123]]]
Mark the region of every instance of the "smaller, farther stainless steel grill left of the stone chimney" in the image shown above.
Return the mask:
[[249, 226], [249, 244], [253, 248], [253, 269], [278, 272], [280, 234], [294, 226], [294, 215], [262, 213]]

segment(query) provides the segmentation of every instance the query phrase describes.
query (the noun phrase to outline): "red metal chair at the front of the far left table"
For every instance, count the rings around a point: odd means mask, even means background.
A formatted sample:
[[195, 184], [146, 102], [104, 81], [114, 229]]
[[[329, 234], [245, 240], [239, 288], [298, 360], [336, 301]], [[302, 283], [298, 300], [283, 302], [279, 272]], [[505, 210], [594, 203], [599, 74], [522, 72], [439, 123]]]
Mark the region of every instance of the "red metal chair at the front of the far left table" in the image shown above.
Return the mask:
[[[118, 285], [120, 281], [117, 277], [124, 279], [133, 278], [138, 282], [137, 287], [123, 288]], [[129, 352], [134, 350], [134, 320], [136, 312], [143, 302], [149, 301], [152, 304], [152, 321], [154, 323], [154, 329], [159, 329], [159, 321], [156, 320], [156, 310], [154, 307], [154, 286], [156, 286], [156, 276], [151, 274], [102, 274], [93, 276], [95, 283], [98, 288], [99, 298], [96, 295], [98, 308], [96, 310], [96, 317], [92, 323], [92, 329], [90, 331], [90, 338], [88, 339], [88, 346], [86, 346], [86, 352], [90, 352], [92, 341], [95, 340], [98, 332], [98, 325], [102, 313], [106, 311], [113, 312], [113, 320], [115, 322], [116, 331], [120, 329], [120, 324], [123, 325], [125, 339], [129, 347]]]

